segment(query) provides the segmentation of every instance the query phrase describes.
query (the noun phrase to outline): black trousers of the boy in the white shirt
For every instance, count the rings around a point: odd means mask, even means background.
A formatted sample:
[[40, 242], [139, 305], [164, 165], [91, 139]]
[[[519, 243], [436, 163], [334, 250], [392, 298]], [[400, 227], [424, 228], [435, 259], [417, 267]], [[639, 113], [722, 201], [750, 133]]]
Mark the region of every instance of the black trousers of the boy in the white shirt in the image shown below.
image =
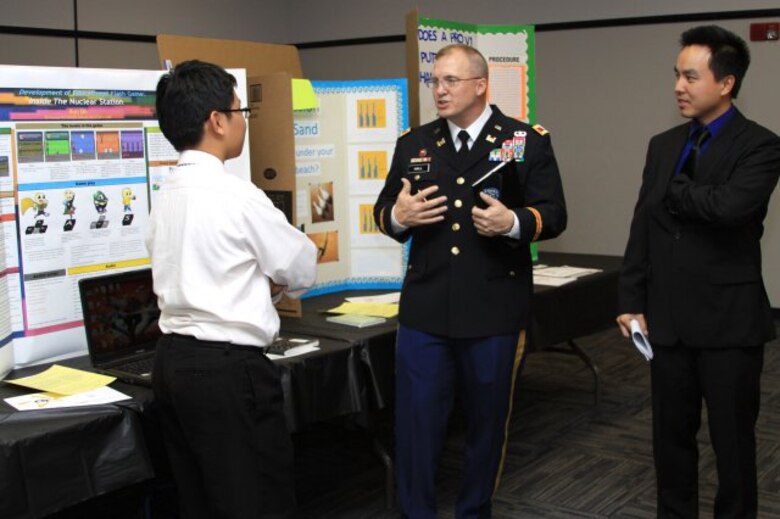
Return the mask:
[[258, 348], [165, 335], [152, 381], [181, 517], [292, 516], [280, 376]]

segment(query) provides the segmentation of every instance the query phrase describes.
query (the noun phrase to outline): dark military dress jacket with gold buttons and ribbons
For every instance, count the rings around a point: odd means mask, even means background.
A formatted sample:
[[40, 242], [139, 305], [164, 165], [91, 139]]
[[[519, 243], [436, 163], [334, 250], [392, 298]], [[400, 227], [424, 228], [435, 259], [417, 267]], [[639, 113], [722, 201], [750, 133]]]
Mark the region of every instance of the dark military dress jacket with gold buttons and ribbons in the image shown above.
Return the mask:
[[[529, 244], [565, 229], [566, 205], [546, 130], [492, 109], [465, 159], [456, 155], [444, 119], [398, 139], [374, 219], [391, 238], [412, 240], [399, 310], [404, 326], [450, 338], [511, 334], [527, 326], [533, 290]], [[517, 214], [520, 239], [486, 238], [472, 221], [478, 195], [471, 185], [498, 164], [489, 160], [491, 150], [511, 140], [515, 131], [525, 132], [524, 157], [499, 170], [491, 185]], [[433, 196], [447, 196], [444, 221], [393, 231], [391, 211], [402, 178], [413, 193], [439, 186]]]

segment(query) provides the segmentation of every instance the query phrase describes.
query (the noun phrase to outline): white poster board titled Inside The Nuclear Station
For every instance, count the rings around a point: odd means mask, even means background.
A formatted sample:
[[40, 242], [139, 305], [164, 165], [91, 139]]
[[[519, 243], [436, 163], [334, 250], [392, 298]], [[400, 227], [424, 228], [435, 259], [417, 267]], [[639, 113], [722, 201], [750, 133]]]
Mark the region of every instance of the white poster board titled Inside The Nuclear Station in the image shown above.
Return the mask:
[[150, 196], [178, 159], [161, 74], [0, 67], [0, 347], [17, 365], [84, 351], [79, 279], [149, 265]]

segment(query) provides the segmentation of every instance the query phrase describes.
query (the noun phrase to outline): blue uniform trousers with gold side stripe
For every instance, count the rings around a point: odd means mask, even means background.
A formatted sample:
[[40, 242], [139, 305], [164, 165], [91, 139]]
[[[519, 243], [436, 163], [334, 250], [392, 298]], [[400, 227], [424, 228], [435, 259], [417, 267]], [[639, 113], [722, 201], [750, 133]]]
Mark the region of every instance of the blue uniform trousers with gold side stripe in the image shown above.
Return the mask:
[[456, 384], [467, 422], [464, 479], [456, 516], [490, 517], [524, 346], [524, 332], [519, 337], [451, 339], [399, 327], [396, 464], [404, 517], [436, 517], [436, 468]]

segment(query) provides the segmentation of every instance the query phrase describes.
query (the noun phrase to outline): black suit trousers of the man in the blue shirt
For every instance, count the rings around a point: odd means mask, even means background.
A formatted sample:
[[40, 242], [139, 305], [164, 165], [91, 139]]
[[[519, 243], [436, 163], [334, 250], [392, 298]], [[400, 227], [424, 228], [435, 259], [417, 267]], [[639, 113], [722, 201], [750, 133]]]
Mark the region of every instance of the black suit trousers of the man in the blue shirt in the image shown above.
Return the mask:
[[707, 404], [718, 492], [715, 518], [756, 517], [755, 425], [764, 347], [653, 346], [653, 454], [658, 517], [699, 517], [702, 399]]

